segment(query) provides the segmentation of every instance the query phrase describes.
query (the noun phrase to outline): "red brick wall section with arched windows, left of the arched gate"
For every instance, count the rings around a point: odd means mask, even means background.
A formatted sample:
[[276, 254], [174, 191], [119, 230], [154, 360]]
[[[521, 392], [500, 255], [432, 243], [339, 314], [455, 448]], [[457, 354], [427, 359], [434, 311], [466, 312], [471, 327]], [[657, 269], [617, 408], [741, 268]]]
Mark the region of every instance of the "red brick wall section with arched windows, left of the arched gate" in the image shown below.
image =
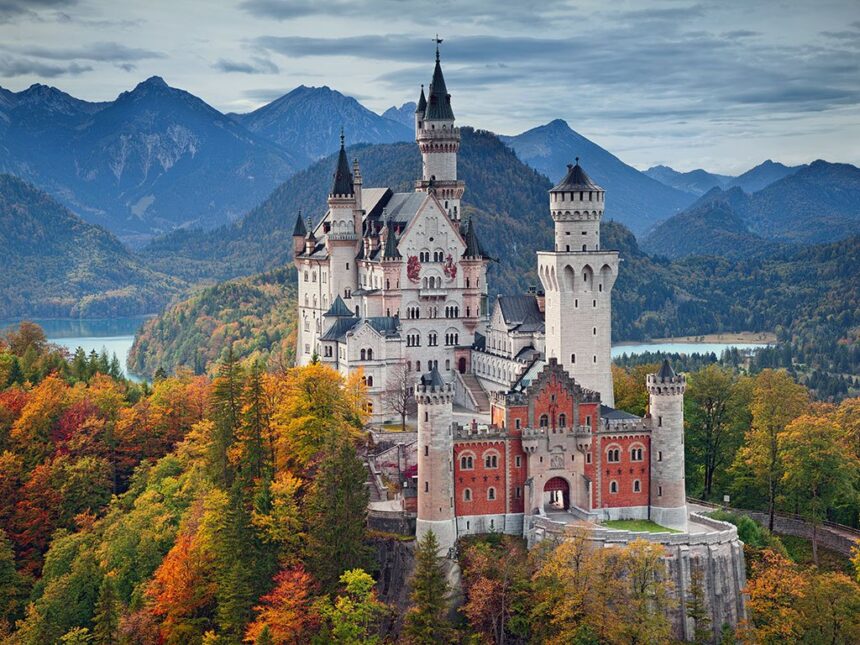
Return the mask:
[[[495, 450], [499, 467], [485, 468], [484, 453]], [[472, 453], [475, 467], [472, 470], [460, 468], [463, 453]], [[523, 464], [525, 466], [525, 464]], [[462, 515], [501, 515], [505, 513], [505, 442], [504, 441], [464, 441], [454, 444], [454, 513]], [[525, 468], [523, 467], [523, 470]], [[487, 491], [496, 489], [496, 498], [487, 499]], [[463, 499], [463, 491], [472, 490], [472, 499]]]

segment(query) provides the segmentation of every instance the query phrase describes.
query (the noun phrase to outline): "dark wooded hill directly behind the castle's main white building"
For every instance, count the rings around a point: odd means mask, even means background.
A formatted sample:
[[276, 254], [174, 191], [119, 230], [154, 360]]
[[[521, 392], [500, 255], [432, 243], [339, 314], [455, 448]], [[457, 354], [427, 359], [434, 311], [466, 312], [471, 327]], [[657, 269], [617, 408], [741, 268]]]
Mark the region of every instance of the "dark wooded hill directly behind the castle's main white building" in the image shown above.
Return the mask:
[[[498, 137], [462, 128], [458, 174], [466, 182], [464, 215], [475, 215], [481, 244], [504, 262], [490, 269], [490, 288], [510, 292], [537, 284], [534, 253], [552, 239], [549, 181], [523, 164]], [[413, 143], [349, 148], [358, 158], [365, 187], [411, 191], [421, 175]], [[153, 242], [145, 257], [186, 279], [227, 279], [283, 265], [292, 257], [292, 231], [299, 211], [319, 220], [331, 190], [335, 157], [290, 177], [239, 222], [210, 232], [177, 231]]]

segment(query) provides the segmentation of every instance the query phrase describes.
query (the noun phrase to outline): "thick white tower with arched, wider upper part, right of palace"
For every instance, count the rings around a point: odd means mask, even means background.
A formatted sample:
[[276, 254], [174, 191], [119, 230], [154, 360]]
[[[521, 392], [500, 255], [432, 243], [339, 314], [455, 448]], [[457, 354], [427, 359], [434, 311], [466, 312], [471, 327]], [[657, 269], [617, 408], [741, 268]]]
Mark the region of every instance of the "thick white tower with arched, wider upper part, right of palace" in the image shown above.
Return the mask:
[[579, 165], [549, 191], [555, 250], [538, 255], [546, 292], [546, 355], [555, 357], [585, 388], [613, 406], [612, 286], [618, 251], [600, 249], [604, 190]]

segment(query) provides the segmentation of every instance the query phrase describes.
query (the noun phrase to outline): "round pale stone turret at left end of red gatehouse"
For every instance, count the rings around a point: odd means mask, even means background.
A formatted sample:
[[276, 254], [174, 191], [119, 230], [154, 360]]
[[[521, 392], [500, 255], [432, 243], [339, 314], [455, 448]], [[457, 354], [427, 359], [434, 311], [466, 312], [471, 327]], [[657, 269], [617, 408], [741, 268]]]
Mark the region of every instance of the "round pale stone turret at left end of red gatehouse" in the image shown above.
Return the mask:
[[454, 389], [436, 368], [415, 385], [418, 403], [418, 539], [432, 530], [439, 552], [457, 540], [454, 519], [454, 438], [451, 412]]

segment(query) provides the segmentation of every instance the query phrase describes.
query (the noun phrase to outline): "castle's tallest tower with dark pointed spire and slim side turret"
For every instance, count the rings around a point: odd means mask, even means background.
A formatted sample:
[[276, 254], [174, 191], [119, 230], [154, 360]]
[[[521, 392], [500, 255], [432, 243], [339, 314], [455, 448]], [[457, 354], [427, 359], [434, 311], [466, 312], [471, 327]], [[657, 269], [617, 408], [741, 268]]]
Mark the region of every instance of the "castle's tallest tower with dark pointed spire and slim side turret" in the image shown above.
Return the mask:
[[436, 68], [430, 93], [424, 97], [424, 87], [415, 110], [415, 140], [421, 150], [421, 179], [415, 189], [433, 190], [448, 211], [448, 216], [460, 220], [460, 199], [466, 187], [457, 180], [457, 152], [460, 150], [460, 129], [454, 126], [451, 95], [445, 87], [439, 63], [439, 43], [436, 39]]

